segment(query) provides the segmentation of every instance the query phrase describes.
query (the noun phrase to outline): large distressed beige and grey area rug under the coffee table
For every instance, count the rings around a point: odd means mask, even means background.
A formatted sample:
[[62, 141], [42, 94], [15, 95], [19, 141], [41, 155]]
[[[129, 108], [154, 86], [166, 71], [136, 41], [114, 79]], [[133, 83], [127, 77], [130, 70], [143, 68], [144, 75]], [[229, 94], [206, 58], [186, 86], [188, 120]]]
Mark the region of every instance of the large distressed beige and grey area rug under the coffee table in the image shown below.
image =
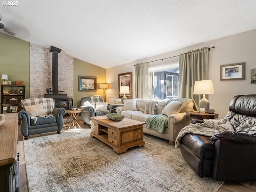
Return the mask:
[[144, 147], [118, 155], [90, 131], [64, 128], [24, 140], [29, 191], [215, 192], [222, 185], [197, 176], [166, 140], [144, 134]]

